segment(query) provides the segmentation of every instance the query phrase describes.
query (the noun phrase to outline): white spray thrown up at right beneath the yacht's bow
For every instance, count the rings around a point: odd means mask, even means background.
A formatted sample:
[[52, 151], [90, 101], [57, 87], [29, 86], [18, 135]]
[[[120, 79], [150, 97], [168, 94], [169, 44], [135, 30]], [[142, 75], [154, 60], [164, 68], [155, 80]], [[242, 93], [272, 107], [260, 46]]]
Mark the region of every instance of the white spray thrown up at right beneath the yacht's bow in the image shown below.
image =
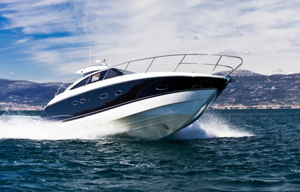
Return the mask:
[[214, 113], [203, 115], [192, 125], [167, 137], [169, 140], [192, 140], [212, 137], [250, 137], [254, 136]]

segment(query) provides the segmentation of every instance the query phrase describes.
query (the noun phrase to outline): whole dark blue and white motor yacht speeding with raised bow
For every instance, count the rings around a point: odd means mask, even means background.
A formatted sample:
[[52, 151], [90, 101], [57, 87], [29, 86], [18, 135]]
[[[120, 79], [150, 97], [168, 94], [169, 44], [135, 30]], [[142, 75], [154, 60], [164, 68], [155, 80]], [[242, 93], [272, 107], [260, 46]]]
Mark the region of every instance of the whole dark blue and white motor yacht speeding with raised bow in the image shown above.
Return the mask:
[[[217, 57], [216, 63], [187, 61], [187, 57]], [[168, 62], [169, 58], [179, 62]], [[229, 62], [238, 59], [236, 67], [221, 65], [221, 58]], [[158, 65], [156, 61], [162, 59]], [[158, 140], [179, 131], [199, 119], [217, 97], [233, 82], [232, 73], [241, 66], [242, 59], [229, 55], [180, 54], [164, 55], [128, 61], [111, 66], [98, 64], [76, 71], [68, 87], [47, 104], [41, 119], [82, 126], [113, 125], [126, 134], [147, 140]], [[146, 65], [133, 68], [134, 63]], [[173, 64], [166, 67], [164, 64]], [[187, 66], [196, 66], [191, 69]], [[212, 67], [209, 74], [201, 66]], [[140, 70], [144, 67], [144, 70]], [[159, 69], [151, 71], [151, 68]], [[199, 68], [200, 67], [200, 68]], [[214, 75], [216, 67], [229, 67], [229, 73]], [[138, 70], [137, 70], [138, 69]], [[107, 126], [109, 128], [109, 126]]]

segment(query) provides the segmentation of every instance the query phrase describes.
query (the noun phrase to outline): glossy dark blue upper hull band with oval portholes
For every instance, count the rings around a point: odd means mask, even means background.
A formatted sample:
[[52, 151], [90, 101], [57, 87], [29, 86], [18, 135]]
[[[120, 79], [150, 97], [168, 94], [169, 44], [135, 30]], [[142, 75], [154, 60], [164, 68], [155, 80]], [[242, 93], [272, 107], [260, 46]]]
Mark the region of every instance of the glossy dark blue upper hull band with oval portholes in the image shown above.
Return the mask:
[[175, 76], [124, 82], [94, 89], [47, 106], [41, 118], [55, 120], [54, 117], [60, 117], [56, 121], [66, 122], [143, 99], [181, 91], [217, 89], [219, 95], [226, 88], [226, 81], [213, 77]]

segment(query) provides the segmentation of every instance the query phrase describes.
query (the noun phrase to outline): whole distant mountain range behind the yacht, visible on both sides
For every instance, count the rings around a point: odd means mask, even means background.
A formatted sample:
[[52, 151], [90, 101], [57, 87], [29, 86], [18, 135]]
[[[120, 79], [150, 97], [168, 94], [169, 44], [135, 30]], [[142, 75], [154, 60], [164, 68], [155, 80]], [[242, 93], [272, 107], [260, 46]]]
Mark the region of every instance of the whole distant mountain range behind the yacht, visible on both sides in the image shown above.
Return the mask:
[[[224, 72], [214, 73], [215, 75]], [[249, 70], [237, 70], [217, 104], [299, 104], [300, 73], [262, 75]], [[0, 79], [0, 102], [46, 105], [61, 86], [61, 82], [37, 83], [23, 80]], [[65, 84], [59, 92], [68, 87]]]

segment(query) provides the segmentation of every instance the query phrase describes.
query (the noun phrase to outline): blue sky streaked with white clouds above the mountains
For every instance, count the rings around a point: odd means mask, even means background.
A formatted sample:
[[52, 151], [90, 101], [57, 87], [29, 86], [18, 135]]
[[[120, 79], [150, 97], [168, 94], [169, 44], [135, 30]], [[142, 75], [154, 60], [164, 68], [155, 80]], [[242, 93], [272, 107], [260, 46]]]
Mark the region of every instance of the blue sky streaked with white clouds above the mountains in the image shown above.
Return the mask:
[[299, 13], [299, 0], [1, 0], [0, 78], [67, 81], [90, 46], [91, 64], [211, 53], [256, 73], [299, 73]]

